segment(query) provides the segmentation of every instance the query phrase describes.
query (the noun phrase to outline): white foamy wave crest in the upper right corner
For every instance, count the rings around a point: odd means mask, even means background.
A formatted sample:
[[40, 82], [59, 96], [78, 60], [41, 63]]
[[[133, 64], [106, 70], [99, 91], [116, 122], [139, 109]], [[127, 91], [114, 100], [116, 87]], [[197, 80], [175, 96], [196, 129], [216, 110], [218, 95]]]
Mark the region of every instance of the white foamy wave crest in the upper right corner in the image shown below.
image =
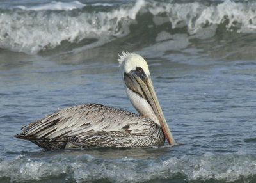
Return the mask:
[[[226, 22], [228, 31], [237, 28], [237, 33], [256, 32], [256, 4], [234, 2], [206, 5], [193, 3], [152, 3], [149, 11], [153, 15], [166, 13], [172, 28], [187, 27], [194, 34], [208, 25], [219, 25]], [[166, 21], [164, 21], [166, 22]]]

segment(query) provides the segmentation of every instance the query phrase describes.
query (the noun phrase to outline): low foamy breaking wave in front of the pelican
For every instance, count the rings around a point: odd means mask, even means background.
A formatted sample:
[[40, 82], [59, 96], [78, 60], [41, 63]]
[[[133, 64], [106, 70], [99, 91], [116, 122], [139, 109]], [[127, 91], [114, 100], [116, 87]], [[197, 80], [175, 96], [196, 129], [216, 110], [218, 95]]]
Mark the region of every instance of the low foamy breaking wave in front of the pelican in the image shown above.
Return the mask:
[[212, 154], [184, 155], [169, 159], [101, 159], [92, 155], [54, 155], [29, 157], [18, 155], [2, 159], [0, 180], [10, 182], [145, 182], [149, 180], [177, 180], [177, 182], [254, 182], [256, 180], [255, 155]]

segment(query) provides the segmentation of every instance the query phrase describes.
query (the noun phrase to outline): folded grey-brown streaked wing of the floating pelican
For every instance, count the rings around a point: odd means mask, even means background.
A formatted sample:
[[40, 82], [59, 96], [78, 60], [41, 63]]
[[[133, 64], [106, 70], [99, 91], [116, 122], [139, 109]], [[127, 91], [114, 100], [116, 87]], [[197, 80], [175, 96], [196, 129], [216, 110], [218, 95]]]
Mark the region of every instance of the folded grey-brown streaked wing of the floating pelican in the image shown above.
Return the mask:
[[101, 104], [84, 104], [56, 111], [22, 128], [23, 139], [88, 138], [108, 132], [145, 134], [154, 122], [134, 113]]

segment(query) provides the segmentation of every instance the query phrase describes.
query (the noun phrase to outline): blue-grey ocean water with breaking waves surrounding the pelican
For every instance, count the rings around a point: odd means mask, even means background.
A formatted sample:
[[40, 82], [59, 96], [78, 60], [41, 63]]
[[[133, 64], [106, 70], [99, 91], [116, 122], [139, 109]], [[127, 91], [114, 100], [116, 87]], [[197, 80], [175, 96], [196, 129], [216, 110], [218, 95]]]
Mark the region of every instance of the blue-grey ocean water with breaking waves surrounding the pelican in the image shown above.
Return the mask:
[[[136, 112], [118, 54], [147, 60], [176, 146], [44, 151], [58, 108]], [[256, 182], [255, 1], [1, 1], [0, 182]]]

